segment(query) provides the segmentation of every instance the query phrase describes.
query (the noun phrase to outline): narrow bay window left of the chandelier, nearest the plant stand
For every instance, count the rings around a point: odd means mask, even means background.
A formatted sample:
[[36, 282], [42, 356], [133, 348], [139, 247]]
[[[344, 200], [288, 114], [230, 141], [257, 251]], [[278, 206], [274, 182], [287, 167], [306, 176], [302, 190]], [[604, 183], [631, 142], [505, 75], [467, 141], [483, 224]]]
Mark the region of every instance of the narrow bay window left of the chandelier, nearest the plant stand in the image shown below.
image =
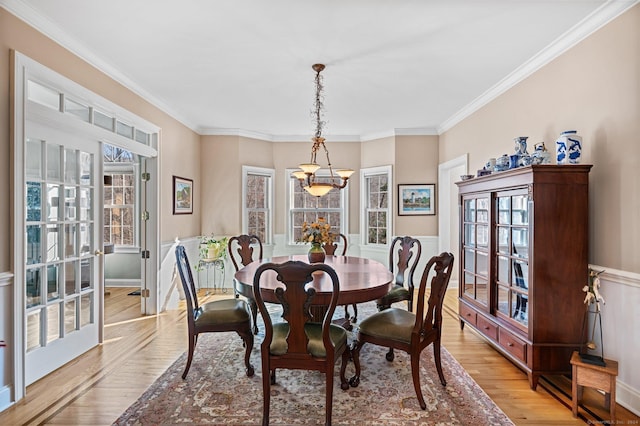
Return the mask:
[[242, 167], [242, 229], [257, 235], [263, 244], [271, 243], [273, 206], [273, 169]]

